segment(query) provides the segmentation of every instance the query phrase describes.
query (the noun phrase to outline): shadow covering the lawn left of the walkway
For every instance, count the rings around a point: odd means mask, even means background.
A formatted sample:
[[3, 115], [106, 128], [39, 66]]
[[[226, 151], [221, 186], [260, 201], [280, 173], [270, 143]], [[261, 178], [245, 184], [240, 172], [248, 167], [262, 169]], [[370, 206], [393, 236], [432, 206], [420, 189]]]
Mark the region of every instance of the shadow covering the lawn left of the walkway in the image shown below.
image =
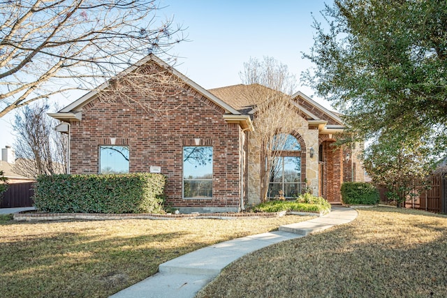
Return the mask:
[[187, 241], [163, 244], [184, 236], [184, 232], [135, 237], [49, 232], [2, 239], [1, 296], [108, 297], [155, 274], [159, 264], [200, 246]]

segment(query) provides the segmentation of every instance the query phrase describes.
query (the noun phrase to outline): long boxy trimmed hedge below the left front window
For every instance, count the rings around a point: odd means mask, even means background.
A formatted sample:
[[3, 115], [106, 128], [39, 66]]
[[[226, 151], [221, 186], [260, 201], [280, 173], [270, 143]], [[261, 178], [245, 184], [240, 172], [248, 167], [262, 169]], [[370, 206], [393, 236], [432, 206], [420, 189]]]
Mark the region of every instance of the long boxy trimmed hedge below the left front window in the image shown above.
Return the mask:
[[159, 213], [162, 174], [55, 174], [39, 176], [34, 205], [50, 213]]

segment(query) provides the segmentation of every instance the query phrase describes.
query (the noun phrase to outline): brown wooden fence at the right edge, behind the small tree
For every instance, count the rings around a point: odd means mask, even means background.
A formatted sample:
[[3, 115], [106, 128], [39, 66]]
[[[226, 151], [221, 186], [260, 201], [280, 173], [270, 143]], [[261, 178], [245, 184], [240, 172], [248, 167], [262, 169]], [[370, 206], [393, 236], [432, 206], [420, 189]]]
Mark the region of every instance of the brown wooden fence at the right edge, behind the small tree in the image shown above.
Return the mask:
[[[447, 214], [447, 173], [432, 174], [431, 187], [414, 200], [406, 201], [405, 207]], [[381, 202], [388, 203], [386, 192], [386, 188], [379, 188]]]

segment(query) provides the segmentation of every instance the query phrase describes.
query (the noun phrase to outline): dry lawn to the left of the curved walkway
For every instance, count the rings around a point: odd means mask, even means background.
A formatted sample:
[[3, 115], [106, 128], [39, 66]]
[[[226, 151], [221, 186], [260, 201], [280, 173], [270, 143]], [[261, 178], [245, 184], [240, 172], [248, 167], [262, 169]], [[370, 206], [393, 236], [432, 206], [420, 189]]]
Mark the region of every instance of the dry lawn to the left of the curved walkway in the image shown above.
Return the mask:
[[0, 297], [108, 297], [184, 253], [307, 219], [17, 223], [2, 216]]

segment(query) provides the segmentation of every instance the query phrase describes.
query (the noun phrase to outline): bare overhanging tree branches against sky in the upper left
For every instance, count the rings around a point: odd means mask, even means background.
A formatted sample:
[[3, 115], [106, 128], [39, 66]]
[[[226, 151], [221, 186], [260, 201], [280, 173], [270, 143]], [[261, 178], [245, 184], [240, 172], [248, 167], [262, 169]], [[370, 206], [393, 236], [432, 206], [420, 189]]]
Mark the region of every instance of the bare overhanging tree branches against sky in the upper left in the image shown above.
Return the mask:
[[0, 2], [0, 117], [34, 100], [92, 90], [184, 40], [156, 0]]

